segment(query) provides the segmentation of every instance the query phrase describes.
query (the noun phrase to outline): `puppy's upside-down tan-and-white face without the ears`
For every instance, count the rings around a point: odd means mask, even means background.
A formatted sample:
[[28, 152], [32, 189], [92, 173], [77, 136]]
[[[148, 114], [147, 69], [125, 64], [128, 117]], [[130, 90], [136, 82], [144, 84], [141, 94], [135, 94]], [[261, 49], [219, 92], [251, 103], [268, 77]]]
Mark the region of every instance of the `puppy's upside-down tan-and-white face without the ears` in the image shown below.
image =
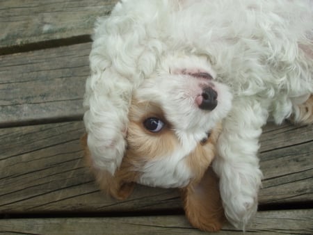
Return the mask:
[[185, 64], [161, 66], [134, 91], [121, 170], [136, 172], [139, 184], [185, 187], [201, 179], [214, 157], [232, 96], [208, 63]]

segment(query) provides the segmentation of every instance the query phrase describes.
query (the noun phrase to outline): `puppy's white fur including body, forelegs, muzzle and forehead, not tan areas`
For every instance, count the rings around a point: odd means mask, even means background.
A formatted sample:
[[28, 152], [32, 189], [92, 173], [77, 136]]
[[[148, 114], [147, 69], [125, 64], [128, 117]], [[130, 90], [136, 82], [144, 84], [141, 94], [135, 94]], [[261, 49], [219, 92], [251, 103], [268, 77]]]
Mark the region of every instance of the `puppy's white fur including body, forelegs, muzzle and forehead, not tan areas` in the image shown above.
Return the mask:
[[[214, 170], [227, 219], [245, 225], [257, 210], [262, 126], [270, 116], [278, 124], [286, 118], [313, 122], [312, 5], [118, 3], [97, 22], [90, 53], [84, 122], [93, 166], [109, 175], [120, 168], [134, 97], [158, 104], [181, 147], [161, 165], [141, 165], [141, 184], [186, 186], [193, 172], [181, 160], [222, 122]], [[158, 120], [150, 121], [159, 127]]]

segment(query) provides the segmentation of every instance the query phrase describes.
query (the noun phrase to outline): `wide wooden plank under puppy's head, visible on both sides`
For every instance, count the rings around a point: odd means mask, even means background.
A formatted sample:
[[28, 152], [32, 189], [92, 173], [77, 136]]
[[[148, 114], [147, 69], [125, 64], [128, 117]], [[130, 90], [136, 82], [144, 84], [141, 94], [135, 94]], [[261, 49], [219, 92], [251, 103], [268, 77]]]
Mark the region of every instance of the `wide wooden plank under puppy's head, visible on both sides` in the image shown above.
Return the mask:
[[[263, 205], [313, 202], [313, 126], [300, 128], [298, 136], [298, 129], [284, 127], [294, 129], [295, 134], [286, 147], [261, 149], [264, 188], [259, 200]], [[273, 131], [264, 133], [262, 146]], [[111, 213], [182, 209], [176, 190], [137, 186], [134, 194], [122, 202], [104, 196], [84, 167], [79, 145], [83, 132], [82, 122], [0, 129], [0, 211]], [[284, 141], [283, 133], [275, 136], [278, 143]]]

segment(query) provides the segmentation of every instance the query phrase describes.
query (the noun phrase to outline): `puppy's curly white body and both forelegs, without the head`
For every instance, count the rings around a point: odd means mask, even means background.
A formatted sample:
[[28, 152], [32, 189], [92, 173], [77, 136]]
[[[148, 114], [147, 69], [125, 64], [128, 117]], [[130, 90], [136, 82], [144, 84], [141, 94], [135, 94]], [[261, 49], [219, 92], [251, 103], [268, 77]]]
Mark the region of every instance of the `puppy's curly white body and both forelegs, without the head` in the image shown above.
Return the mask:
[[313, 93], [312, 9], [310, 0], [118, 3], [97, 22], [90, 53], [84, 121], [94, 165], [112, 175], [119, 167], [132, 91], [162, 60], [204, 56], [234, 96], [214, 169], [227, 218], [245, 225], [257, 210], [262, 126], [268, 116], [281, 123]]

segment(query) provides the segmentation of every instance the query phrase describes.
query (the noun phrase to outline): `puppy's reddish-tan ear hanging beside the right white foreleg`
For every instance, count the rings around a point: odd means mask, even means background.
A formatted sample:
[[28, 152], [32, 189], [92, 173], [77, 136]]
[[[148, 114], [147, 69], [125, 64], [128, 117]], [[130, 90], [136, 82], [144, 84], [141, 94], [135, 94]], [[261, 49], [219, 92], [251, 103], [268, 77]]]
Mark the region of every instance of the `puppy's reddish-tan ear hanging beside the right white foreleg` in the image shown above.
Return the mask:
[[218, 178], [209, 168], [201, 181], [191, 183], [182, 190], [186, 217], [193, 227], [216, 232], [225, 222], [224, 210], [218, 190]]

